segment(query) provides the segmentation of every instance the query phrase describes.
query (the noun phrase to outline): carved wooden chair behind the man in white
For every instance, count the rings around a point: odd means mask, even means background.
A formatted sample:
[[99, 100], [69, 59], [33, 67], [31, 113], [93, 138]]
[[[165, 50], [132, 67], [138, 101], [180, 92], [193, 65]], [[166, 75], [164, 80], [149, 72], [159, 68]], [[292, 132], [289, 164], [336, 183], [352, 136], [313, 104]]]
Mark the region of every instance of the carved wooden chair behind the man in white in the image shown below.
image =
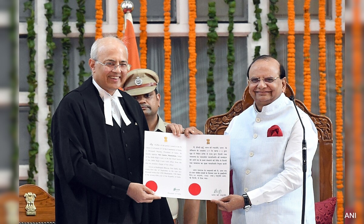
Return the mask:
[[[288, 84], [285, 95], [287, 97], [294, 95], [292, 88]], [[239, 115], [242, 111], [253, 105], [253, 102], [254, 100], [249, 94], [249, 89], [246, 87], [242, 99], [237, 101], [229, 112], [207, 119], [205, 124], [205, 134], [224, 134], [225, 129], [233, 117]], [[316, 115], [308, 111], [306, 106], [297, 99], [296, 105], [309, 115], [317, 128], [320, 201], [324, 201], [332, 197], [332, 123], [328, 117]], [[210, 201], [206, 201], [207, 224], [217, 224], [217, 213], [217, 205]]]

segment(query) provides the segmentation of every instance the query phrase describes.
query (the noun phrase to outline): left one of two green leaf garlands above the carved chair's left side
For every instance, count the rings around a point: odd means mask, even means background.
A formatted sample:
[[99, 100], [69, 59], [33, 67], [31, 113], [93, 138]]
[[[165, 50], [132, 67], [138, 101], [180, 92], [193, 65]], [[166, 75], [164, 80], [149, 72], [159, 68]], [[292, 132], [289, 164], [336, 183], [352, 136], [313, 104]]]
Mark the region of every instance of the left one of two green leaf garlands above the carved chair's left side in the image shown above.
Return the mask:
[[217, 41], [218, 35], [215, 28], [218, 26], [218, 18], [216, 16], [216, 6], [214, 1], [209, 2], [209, 20], [207, 20], [207, 25], [209, 26], [209, 32], [207, 33], [207, 55], [209, 56], [209, 71], [207, 72], [207, 94], [209, 94], [207, 102], [207, 118], [213, 115], [216, 108], [216, 95], [214, 90], [214, 66], [216, 62], [215, 57], [215, 43]]

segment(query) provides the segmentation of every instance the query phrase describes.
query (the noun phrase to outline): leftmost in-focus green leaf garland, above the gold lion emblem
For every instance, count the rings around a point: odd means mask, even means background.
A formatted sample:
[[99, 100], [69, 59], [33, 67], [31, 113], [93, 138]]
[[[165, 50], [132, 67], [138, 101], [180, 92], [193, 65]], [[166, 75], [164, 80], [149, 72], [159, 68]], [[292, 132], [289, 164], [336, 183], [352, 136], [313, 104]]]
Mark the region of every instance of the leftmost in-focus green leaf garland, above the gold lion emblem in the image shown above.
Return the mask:
[[38, 173], [35, 166], [35, 158], [38, 154], [38, 142], [36, 142], [36, 122], [38, 115], [38, 105], [34, 102], [35, 89], [37, 88], [37, 80], [35, 74], [35, 31], [34, 31], [34, 10], [33, 10], [33, 0], [28, 0], [24, 3], [24, 12], [29, 10], [30, 16], [27, 17], [27, 43], [29, 48], [29, 74], [27, 75], [27, 80], [29, 84], [29, 124], [27, 126], [28, 132], [30, 134], [30, 148], [29, 148], [29, 170], [28, 170], [28, 184], [35, 184], [34, 173]]

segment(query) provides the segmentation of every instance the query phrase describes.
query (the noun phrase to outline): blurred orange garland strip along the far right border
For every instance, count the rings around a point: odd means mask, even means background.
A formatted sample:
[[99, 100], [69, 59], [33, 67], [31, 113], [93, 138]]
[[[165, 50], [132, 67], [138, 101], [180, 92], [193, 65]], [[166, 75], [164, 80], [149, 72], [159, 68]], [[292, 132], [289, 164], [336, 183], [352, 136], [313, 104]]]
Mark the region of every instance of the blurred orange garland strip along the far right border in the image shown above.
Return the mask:
[[363, 223], [363, 78], [362, 66], [363, 55], [361, 52], [363, 36], [361, 35], [362, 25], [360, 23], [360, 1], [353, 1], [353, 28], [352, 28], [352, 67], [353, 67], [353, 148], [354, 148], [354, 190], [355, 190], [355, 223]]

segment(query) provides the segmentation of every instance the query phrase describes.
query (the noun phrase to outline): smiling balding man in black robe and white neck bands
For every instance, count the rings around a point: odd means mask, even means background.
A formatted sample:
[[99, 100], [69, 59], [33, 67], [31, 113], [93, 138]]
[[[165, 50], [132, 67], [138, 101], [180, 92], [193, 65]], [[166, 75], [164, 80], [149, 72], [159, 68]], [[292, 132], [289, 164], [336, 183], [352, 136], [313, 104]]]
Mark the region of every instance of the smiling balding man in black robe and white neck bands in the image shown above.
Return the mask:
[[118, 90], [130, 69], [125, 45], [96, 40], [89, 65], [92, 77], [52, 119], [56, 223], [173, 224], [166, 199], [142, 184], [149, 129], [139, 103]]

